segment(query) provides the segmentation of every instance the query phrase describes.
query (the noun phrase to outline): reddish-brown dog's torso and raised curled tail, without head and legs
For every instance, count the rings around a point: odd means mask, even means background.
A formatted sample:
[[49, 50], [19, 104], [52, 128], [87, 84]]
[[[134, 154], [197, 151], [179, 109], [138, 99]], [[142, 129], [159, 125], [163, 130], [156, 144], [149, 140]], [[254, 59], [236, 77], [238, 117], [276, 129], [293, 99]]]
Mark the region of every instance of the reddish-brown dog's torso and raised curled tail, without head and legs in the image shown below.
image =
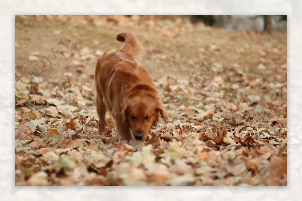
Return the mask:
[[99, 98], [104, 99], [110, 111], [120, 101], [116, 94], [125, 91], [122, 86], [145, 82], [155, 88], [146, 67], [137, 63], [145, 54], [142, 43], [131, 32], [118, 34], [117, 41], [124, 42], [124, 47], [113, 53], [103, 54], [95, 68], [96, 90], [101, 91], [104, 98]]

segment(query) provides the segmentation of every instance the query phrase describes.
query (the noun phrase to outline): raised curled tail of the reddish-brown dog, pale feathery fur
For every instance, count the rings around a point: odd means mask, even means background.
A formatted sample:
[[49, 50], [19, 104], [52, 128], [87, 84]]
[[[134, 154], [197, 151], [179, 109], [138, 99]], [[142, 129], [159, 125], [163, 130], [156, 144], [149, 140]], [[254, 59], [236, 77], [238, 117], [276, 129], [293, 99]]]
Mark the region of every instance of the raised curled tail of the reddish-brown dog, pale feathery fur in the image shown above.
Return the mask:
[[134, 60], [140, 61], [145, 55], [145, 48], [143, 44], [131, 33], [131, 32], [122, 32], [117, 34], [117, 41], [125, 42], [124, 50], [129, 54], [132, 54]]

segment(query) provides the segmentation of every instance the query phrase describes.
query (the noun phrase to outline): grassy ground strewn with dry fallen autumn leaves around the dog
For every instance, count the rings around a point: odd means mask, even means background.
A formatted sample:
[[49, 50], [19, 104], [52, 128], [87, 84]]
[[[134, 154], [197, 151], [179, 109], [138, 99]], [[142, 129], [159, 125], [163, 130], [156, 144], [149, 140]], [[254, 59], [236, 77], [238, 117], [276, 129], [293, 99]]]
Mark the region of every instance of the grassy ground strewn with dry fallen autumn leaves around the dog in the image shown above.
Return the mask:
[[[286, 34], [175, 18], [16, 17], [16, 185], [287, 184]], [[145, 45], [171, 120], [144, 143], [120, 141], [109, 114], [108, 133], [97, 129], [95, 63], [121, 47], [115, 36], [125, 30]], [[65, 50], [63, 36], [77, 46], [58, 68], [46, 64], [40, 82], [32, 68], [52, 47]]]

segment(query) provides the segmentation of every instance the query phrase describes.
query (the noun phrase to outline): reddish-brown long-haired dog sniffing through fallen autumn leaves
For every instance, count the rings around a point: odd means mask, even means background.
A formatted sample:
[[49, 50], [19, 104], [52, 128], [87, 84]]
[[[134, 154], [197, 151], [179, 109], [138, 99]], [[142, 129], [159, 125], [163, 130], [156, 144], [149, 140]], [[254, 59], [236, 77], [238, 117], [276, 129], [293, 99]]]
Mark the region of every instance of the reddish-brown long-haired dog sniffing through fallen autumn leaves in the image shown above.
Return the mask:
[[142, 43], [131, 32], [122, 32], [116, 39], [124, 47], [104, 53], [95, 68], [98, 132], [106, 132], [108, 110], [121, 140], [145, 141], [159, 114], [169, 118], [146, 67], [138, 63], [145, 55]]

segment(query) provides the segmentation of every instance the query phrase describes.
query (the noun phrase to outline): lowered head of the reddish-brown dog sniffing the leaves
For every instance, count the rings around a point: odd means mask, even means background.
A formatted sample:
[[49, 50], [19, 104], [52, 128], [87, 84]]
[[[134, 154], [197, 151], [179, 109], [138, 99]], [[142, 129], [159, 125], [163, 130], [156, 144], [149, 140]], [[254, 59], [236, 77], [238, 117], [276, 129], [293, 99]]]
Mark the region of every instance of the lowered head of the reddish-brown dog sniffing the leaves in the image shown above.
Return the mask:
[[152, 91], [134, 93], [124, 101], [122, 110], [123, 122], [130, 124], [131, 133], [136, 140], [146, 140], [151, 126], [155, 125], [159, 119], [159, 114], [163, 119], [168, 120], [162, 102]]

